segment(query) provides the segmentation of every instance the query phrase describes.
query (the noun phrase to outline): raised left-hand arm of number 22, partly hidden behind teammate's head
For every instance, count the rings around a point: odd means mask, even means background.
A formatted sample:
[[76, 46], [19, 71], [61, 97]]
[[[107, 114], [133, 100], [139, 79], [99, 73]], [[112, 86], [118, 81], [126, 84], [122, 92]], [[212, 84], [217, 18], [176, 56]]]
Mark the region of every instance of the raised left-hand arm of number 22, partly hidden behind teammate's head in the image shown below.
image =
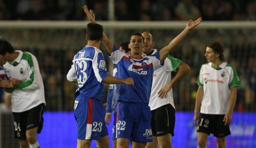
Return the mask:
[[[86, 14], [87, 18], [89, 19], [89, 21], [91, 23], [96, 23], [94, 11], [89, 10], [86, 5], [84, 6], [84, 11], [85, 11], [85, 14]], [[111, 55], [114, 44], [104, 32], [102, 34], [102, 42], [103, 42], [104, 46], [107, 48], [109, 55]]]

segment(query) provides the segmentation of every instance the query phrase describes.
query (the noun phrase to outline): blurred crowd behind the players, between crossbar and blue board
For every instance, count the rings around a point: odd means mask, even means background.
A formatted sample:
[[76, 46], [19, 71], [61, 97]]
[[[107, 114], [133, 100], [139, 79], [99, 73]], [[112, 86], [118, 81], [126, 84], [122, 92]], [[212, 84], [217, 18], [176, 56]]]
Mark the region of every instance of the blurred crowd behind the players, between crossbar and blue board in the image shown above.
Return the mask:
[[[106, 33], [108, 34], [109, 31], [106, 30]], [[114, 30], [115, 43], [118, 45], [129, 41], [131, 33], [143, 31], [145, 30]], [[155, 48], [159, 50], [181, 30], [147, 31], [154, 36]], [[46, 110], [72, 111], [76, 84], [67, 82], [66, 74], [71, 67], [75, 53], [86, 45], [85, 30], [5, 29], [0, 31], [0, 36], [7, 38], [15, 49], [30, 51], [38, 58], [45, 86]], [[238, 87], [235, 110], [256, 111], [255, 38], [255, 29], [200, 29], [191, 32], [171, 53], [191, 67], [190, 73], [173, 88], [177, 111], [194, 110], [198, 87], [196, 78], [201, 65], [206, 62], [204, 58], [206, 45], [214, 41], [223, 43], [226, 60], [236, 67], [241, 79], [242, 85]], [[104, 46], [101, 46], [101, 49], [108, 61], [108, 70], [111, 73], [112, 62]]]

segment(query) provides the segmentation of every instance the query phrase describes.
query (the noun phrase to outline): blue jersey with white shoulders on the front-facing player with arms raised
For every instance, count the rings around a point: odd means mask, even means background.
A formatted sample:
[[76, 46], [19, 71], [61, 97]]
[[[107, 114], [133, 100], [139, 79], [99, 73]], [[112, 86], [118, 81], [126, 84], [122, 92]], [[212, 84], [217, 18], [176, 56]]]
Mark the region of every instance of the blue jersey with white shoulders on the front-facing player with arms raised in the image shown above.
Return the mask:
[[110, 58], [117, 66], [118, 78], [132, 77], [134, 80], [134, 86], [123, 84], [117, 85], [118, 100], [148, 104], [153, 73], [161, 67], [159, 53], [154, 56], [145, 56], [141, 59], [134, 59], [119, 50], [117, 46], [113, 46], [113, 52]]

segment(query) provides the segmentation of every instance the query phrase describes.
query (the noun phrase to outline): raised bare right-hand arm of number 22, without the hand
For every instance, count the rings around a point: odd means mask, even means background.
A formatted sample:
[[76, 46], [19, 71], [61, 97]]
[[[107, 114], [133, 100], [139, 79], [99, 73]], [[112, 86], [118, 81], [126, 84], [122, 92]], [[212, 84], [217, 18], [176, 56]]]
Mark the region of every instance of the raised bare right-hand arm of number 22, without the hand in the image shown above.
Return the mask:
[[164, 48], [159, 51], [160, 61], [164, 62], [169, 53], [176, 47], [182, 39], [189, 33], [189, 30], [185, 28], [178, 36], [176, 36], [172, 41]]

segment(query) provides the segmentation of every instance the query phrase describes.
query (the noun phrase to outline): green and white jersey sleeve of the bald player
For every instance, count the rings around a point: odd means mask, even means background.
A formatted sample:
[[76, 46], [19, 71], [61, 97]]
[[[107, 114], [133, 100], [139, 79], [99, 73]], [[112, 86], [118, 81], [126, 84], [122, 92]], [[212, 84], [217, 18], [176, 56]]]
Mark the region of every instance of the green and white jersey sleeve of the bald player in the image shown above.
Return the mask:
[[180, 63], [181, 63], [181, 60], [176, 59], [171, 55], [168, 55], [167, 58], [165, 59], [165, 64], [164, 66], [162, 66], [162, 68], [164, 68], [164, 70], [167, 72], [172, 72], [172, 71], [176, 72]]

